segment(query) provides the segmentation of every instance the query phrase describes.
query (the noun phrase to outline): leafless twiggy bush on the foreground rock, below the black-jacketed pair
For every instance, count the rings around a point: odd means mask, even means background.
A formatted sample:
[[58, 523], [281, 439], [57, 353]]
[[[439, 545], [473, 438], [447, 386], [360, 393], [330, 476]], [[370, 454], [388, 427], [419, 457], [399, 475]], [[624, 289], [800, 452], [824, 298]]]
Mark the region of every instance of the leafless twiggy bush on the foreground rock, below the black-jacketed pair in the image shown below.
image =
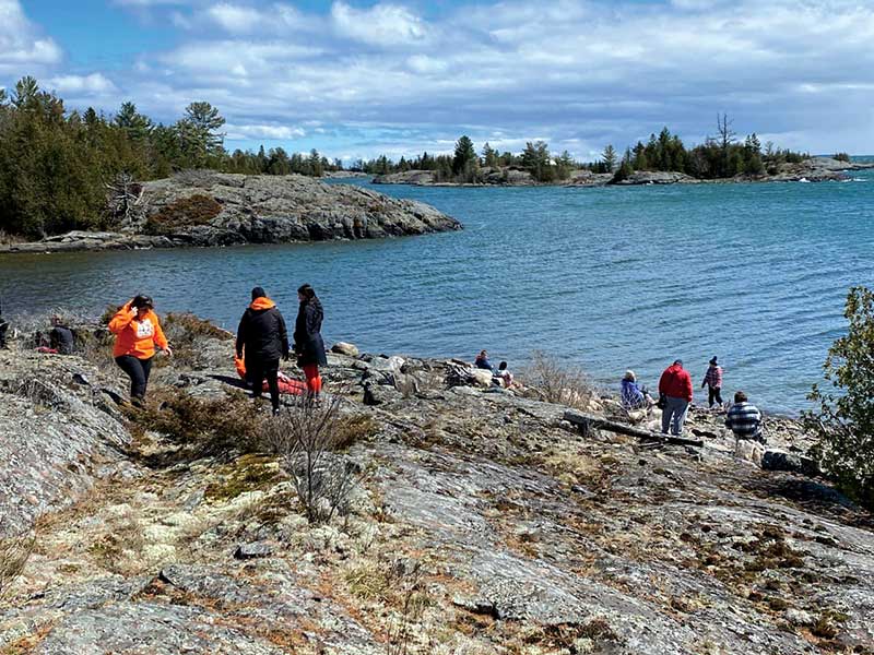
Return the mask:
[[347, 513], [359, 480], [358, 465], [336, 452], [345, 438], [339, 408], [338, 398], [317, 404], [300, 396], [265, 428], [267, 445], [280, 455], [310, 523]]

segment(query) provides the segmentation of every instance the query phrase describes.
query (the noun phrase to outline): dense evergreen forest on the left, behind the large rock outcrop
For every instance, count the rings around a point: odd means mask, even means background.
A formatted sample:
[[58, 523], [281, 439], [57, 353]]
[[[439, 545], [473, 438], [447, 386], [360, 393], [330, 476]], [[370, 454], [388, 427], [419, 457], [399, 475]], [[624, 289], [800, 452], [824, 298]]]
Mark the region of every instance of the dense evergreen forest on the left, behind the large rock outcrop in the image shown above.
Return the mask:
[[105, 229], [118, 217], [107, 194], [119, 176], [164, 178], [177, 170], [321, 176], [340, 168], [317, 151], [277, 147], [228, 153], [225, 119], [210, 103], [188, 105], [176, 122], [155, 122], [123, 103], [115, 115], [68, 111], [63, 100], [26, 76], [0, 88], [0, 237], [42, 238]]

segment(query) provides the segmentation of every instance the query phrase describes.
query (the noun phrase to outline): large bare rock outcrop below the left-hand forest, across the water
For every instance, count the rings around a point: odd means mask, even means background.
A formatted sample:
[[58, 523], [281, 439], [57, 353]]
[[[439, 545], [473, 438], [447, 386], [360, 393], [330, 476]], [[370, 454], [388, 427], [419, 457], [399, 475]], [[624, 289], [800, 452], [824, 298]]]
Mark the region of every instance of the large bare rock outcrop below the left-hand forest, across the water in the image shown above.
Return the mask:
[[0, 254], [379, 239], [462, 228], [421, 202], [304, 176], [189, 171], [141, 189], [113, 231], [0, 246]]

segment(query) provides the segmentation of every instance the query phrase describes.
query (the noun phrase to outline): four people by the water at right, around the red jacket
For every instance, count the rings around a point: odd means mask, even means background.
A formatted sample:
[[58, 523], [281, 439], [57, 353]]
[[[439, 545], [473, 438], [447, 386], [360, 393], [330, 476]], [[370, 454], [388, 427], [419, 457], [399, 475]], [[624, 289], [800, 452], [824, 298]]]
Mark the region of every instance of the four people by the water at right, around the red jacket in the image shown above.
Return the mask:
[[[701, 389], [708, 389], [708, 406], [722, 408], [722, 367], [717, 357], [710, 359]], [[683, 368], [683, 360], [675, 359], [659, 379], [659, 401], [652, 400], [645, 386], [640, 386], [634, 371], [626, 371], [622, 381], [622, 403], [628, 409], [646, 408], [657, 405], [662, 410], [662, 432], [680, 437], [693, 400], [692, 376]], [[746, 394], [734, 394], [734, 404], [725, 415], [725, 427], [737, 439], [764, 441], [761, 433], [761, 413], [748, 402]]]

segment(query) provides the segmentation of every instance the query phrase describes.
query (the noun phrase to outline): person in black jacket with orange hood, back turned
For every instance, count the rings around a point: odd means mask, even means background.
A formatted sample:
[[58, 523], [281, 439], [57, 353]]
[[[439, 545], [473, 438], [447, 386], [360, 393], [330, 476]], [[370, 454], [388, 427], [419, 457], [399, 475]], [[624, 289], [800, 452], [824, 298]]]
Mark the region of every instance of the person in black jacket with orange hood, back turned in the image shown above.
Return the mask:
[[267, 378], [273, 414], [279, 414], [280, 357], [288, 359], [288, 332], [276, 303], [267, 297], [261, 287], [252, 289], [252, 302], [239, 320], [237, 357], [245, 357], [246, 377], [256, 398], [261, 397], [261, 384]]

